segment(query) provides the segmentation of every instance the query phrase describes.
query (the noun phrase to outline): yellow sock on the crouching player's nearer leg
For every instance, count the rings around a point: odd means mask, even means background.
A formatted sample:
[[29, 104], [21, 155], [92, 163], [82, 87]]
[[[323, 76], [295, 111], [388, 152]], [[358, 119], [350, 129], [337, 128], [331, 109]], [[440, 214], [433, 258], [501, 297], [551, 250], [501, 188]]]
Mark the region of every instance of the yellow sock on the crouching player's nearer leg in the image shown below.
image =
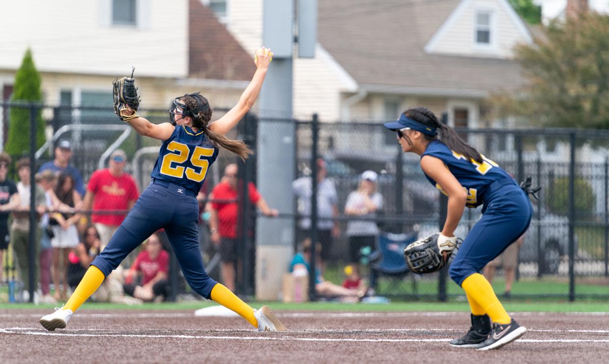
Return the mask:
[[512, 320], [510, 315], [505, 312], [505, 309], [493, 291], [493, 287], [491, 287], [491, 284], [483, 275], [474, 273], [468, 278], [465, 278], [461, 287], [465, 290], [468, 299], [471, 298], [479, 307], [482, 307], [484, 312], [488, 314], [493, 322], [498, 324], [510, 323]]

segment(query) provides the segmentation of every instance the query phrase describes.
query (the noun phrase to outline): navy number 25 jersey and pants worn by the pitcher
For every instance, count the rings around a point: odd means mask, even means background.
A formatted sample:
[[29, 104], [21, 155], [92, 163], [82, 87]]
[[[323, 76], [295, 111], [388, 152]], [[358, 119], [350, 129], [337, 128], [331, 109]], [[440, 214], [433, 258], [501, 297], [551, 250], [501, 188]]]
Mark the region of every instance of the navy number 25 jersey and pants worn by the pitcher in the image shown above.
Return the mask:
[[216, 281], [203, 267], [199, 250], [199, 204], [197, 194], [218, 148], [202, 130], [195, 133], [183, 125], [175, 127], [163, 141], [152, 173], [152, 183], [114, 233], [108, 246], [91, 265], [108, 276], [127, 254], [158, 229], [164, 228], [186, 281], [209, 299]]

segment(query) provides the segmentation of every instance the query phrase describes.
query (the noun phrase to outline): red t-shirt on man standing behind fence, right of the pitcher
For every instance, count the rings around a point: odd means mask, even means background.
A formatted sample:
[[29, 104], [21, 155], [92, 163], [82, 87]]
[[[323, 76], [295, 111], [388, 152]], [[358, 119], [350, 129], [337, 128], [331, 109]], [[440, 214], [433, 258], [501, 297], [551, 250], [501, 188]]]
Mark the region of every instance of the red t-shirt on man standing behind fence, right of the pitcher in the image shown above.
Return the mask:
[[[256, 190], [254, 184], [250, 182], [247, 184], [247, 187], [250, 201], [252, 201], [253, 204], [258, 203], [260, 194]], [[230, 184], [225, 182], [217, 184], [211, 193], [214, 195], [214, 200], [236, 200], [238, 197], [237, 191], [234, 190]], [[220, 236], [236, 239], [239, 203], [214, 202], [211, 204], [211, 207], [216, 210], [218, 214], [218, 233], [220, 233]]]

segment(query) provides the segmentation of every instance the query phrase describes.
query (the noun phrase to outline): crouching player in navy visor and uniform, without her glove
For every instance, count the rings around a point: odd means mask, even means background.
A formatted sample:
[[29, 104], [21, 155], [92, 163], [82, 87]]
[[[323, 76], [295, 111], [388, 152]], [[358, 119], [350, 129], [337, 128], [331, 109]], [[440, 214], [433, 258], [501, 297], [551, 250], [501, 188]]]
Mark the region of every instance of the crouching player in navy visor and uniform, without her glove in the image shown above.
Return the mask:
[[[467, 295], [471, 307], [470, 330], [450, 345], [479, 350], [496, 349], [520, 337], [526, 328], [505, 312], [481, 270], [529, 227], [532, 206], [528, 195], [495, 162], [466, 144], [426, 108], [412, 108], [395, 122], [384, 124], [397, 131], [404, 152], [421, 156], [428, 180], [448, 195], [446, 223], [437, 237], [445, 259], [454, 250], [454, 231], [465, 206], [484, 205], [482, 218], [465, 237], [449, 269], [451, 278]], [[490, 320], [493, 320], [491, 327]]]

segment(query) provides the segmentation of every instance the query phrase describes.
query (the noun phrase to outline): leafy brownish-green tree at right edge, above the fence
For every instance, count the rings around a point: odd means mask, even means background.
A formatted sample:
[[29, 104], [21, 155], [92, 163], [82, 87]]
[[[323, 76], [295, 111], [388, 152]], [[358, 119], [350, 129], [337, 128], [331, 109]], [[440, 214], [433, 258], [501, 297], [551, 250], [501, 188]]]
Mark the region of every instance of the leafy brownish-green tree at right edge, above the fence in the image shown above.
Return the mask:
[[532, 124], [609, 128], [609, 16], [587, 13], [543, 27], [515, 47], [526, 85], [493, 100], [502, 114]]

